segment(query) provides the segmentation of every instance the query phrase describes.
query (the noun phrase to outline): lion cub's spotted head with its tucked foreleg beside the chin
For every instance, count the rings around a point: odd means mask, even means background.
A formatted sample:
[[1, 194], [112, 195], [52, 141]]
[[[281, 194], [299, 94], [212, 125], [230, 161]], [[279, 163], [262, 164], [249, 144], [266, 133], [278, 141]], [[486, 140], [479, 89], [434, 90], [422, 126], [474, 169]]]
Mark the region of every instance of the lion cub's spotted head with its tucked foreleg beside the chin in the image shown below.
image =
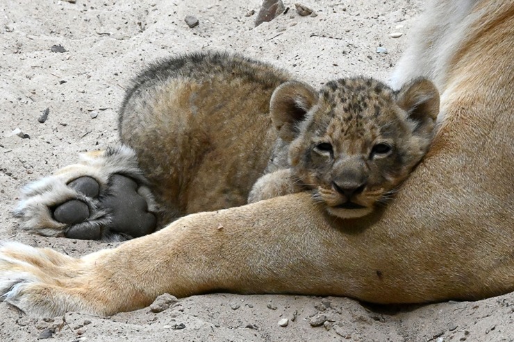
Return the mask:
[[312, 191], [335, 216], [370, 214], [428, 151], [438, 112], [438, 91], [424, 78], [399, 92], [362, 77], [333, 80], [320, 92], [284, 83], [270, 104], [275, 157], [249, 203]]

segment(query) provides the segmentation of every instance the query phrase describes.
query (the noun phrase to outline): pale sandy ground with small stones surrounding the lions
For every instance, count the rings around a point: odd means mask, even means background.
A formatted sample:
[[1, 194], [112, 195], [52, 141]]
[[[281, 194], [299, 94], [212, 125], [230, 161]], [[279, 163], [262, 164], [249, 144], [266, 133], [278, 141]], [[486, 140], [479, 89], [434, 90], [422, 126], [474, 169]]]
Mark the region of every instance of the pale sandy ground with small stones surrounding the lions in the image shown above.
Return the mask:
[[[422, 1], [301, 0], [254, 28], [260, 0], [4, 0], [0, 5], [0, 239], [83, 255], [105, 243], [37, 237], [10, 211], [19, 187], [115, 144], [128, 79], [147, 62], [201, 49], [238, 51], [317, 87], [386, 79]], [[199, 19], [190, 28], [186, 15]], [[400, 32], [399, 38], [390, 33]], [[53, 52], [52, 46], [62, 46]], [[377, 53], [383, 46], [388, 53]], [[55, 50], [55, 47], [54, 49]], [[38, 122], [49, 108], [46, 122]], [[19, 128], [21, 135], [12, 135]], [[288, 318], [286, 327], [279, 320]], [[514, 293], [479, 302], [373, 307], [347, 298], [213, 294], [113, 317], [35, 319], [0, 304], [0, 341], [514, 341]]]

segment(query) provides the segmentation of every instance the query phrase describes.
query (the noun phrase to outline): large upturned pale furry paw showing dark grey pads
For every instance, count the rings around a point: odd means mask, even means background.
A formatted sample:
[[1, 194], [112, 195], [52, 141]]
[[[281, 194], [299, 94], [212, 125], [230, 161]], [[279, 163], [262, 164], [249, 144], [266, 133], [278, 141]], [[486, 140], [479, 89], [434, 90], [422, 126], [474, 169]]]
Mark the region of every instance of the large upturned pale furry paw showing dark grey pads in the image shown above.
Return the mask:
[[15, 216], [44, 236], [116, 241], [156, 229], [155, 200], [127, 146], [85, 153], [22, 191]]

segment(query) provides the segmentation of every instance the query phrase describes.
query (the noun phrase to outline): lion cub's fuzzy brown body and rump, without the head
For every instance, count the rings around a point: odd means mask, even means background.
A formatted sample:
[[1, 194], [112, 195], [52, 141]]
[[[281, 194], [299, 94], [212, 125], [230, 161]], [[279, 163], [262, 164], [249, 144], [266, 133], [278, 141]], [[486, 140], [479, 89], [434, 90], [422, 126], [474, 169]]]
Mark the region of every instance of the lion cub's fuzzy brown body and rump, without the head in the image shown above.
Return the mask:
[[276, 140], [272, 92], [289, 79], [263, 62], [207, 52], [161, 60], [133, 80], [119, 134], [165, 212], [246, 203]]

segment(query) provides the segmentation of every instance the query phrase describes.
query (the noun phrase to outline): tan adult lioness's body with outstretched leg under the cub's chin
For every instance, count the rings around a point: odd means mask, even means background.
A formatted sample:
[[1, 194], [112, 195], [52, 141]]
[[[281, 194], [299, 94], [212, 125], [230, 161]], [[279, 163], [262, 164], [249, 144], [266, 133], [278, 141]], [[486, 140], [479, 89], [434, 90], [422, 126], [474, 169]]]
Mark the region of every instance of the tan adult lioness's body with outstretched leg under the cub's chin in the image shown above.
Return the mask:
[[6, 299], [33, 314], [110, 314], [147, 305], [165, 291], [318, 293], [372, 302], [513, 291], [514, 76], [506, 71], [514, 6], [436, 5], [421, 20], [425, 35], [408, 52], [423, 63], [400, 66], [399, 74], [435, 76], [440, 128], [425, 162], [386, 210], [334, 220], [296, 194], [186, 216], [81, 259], [6, 243], [0, 258]]

